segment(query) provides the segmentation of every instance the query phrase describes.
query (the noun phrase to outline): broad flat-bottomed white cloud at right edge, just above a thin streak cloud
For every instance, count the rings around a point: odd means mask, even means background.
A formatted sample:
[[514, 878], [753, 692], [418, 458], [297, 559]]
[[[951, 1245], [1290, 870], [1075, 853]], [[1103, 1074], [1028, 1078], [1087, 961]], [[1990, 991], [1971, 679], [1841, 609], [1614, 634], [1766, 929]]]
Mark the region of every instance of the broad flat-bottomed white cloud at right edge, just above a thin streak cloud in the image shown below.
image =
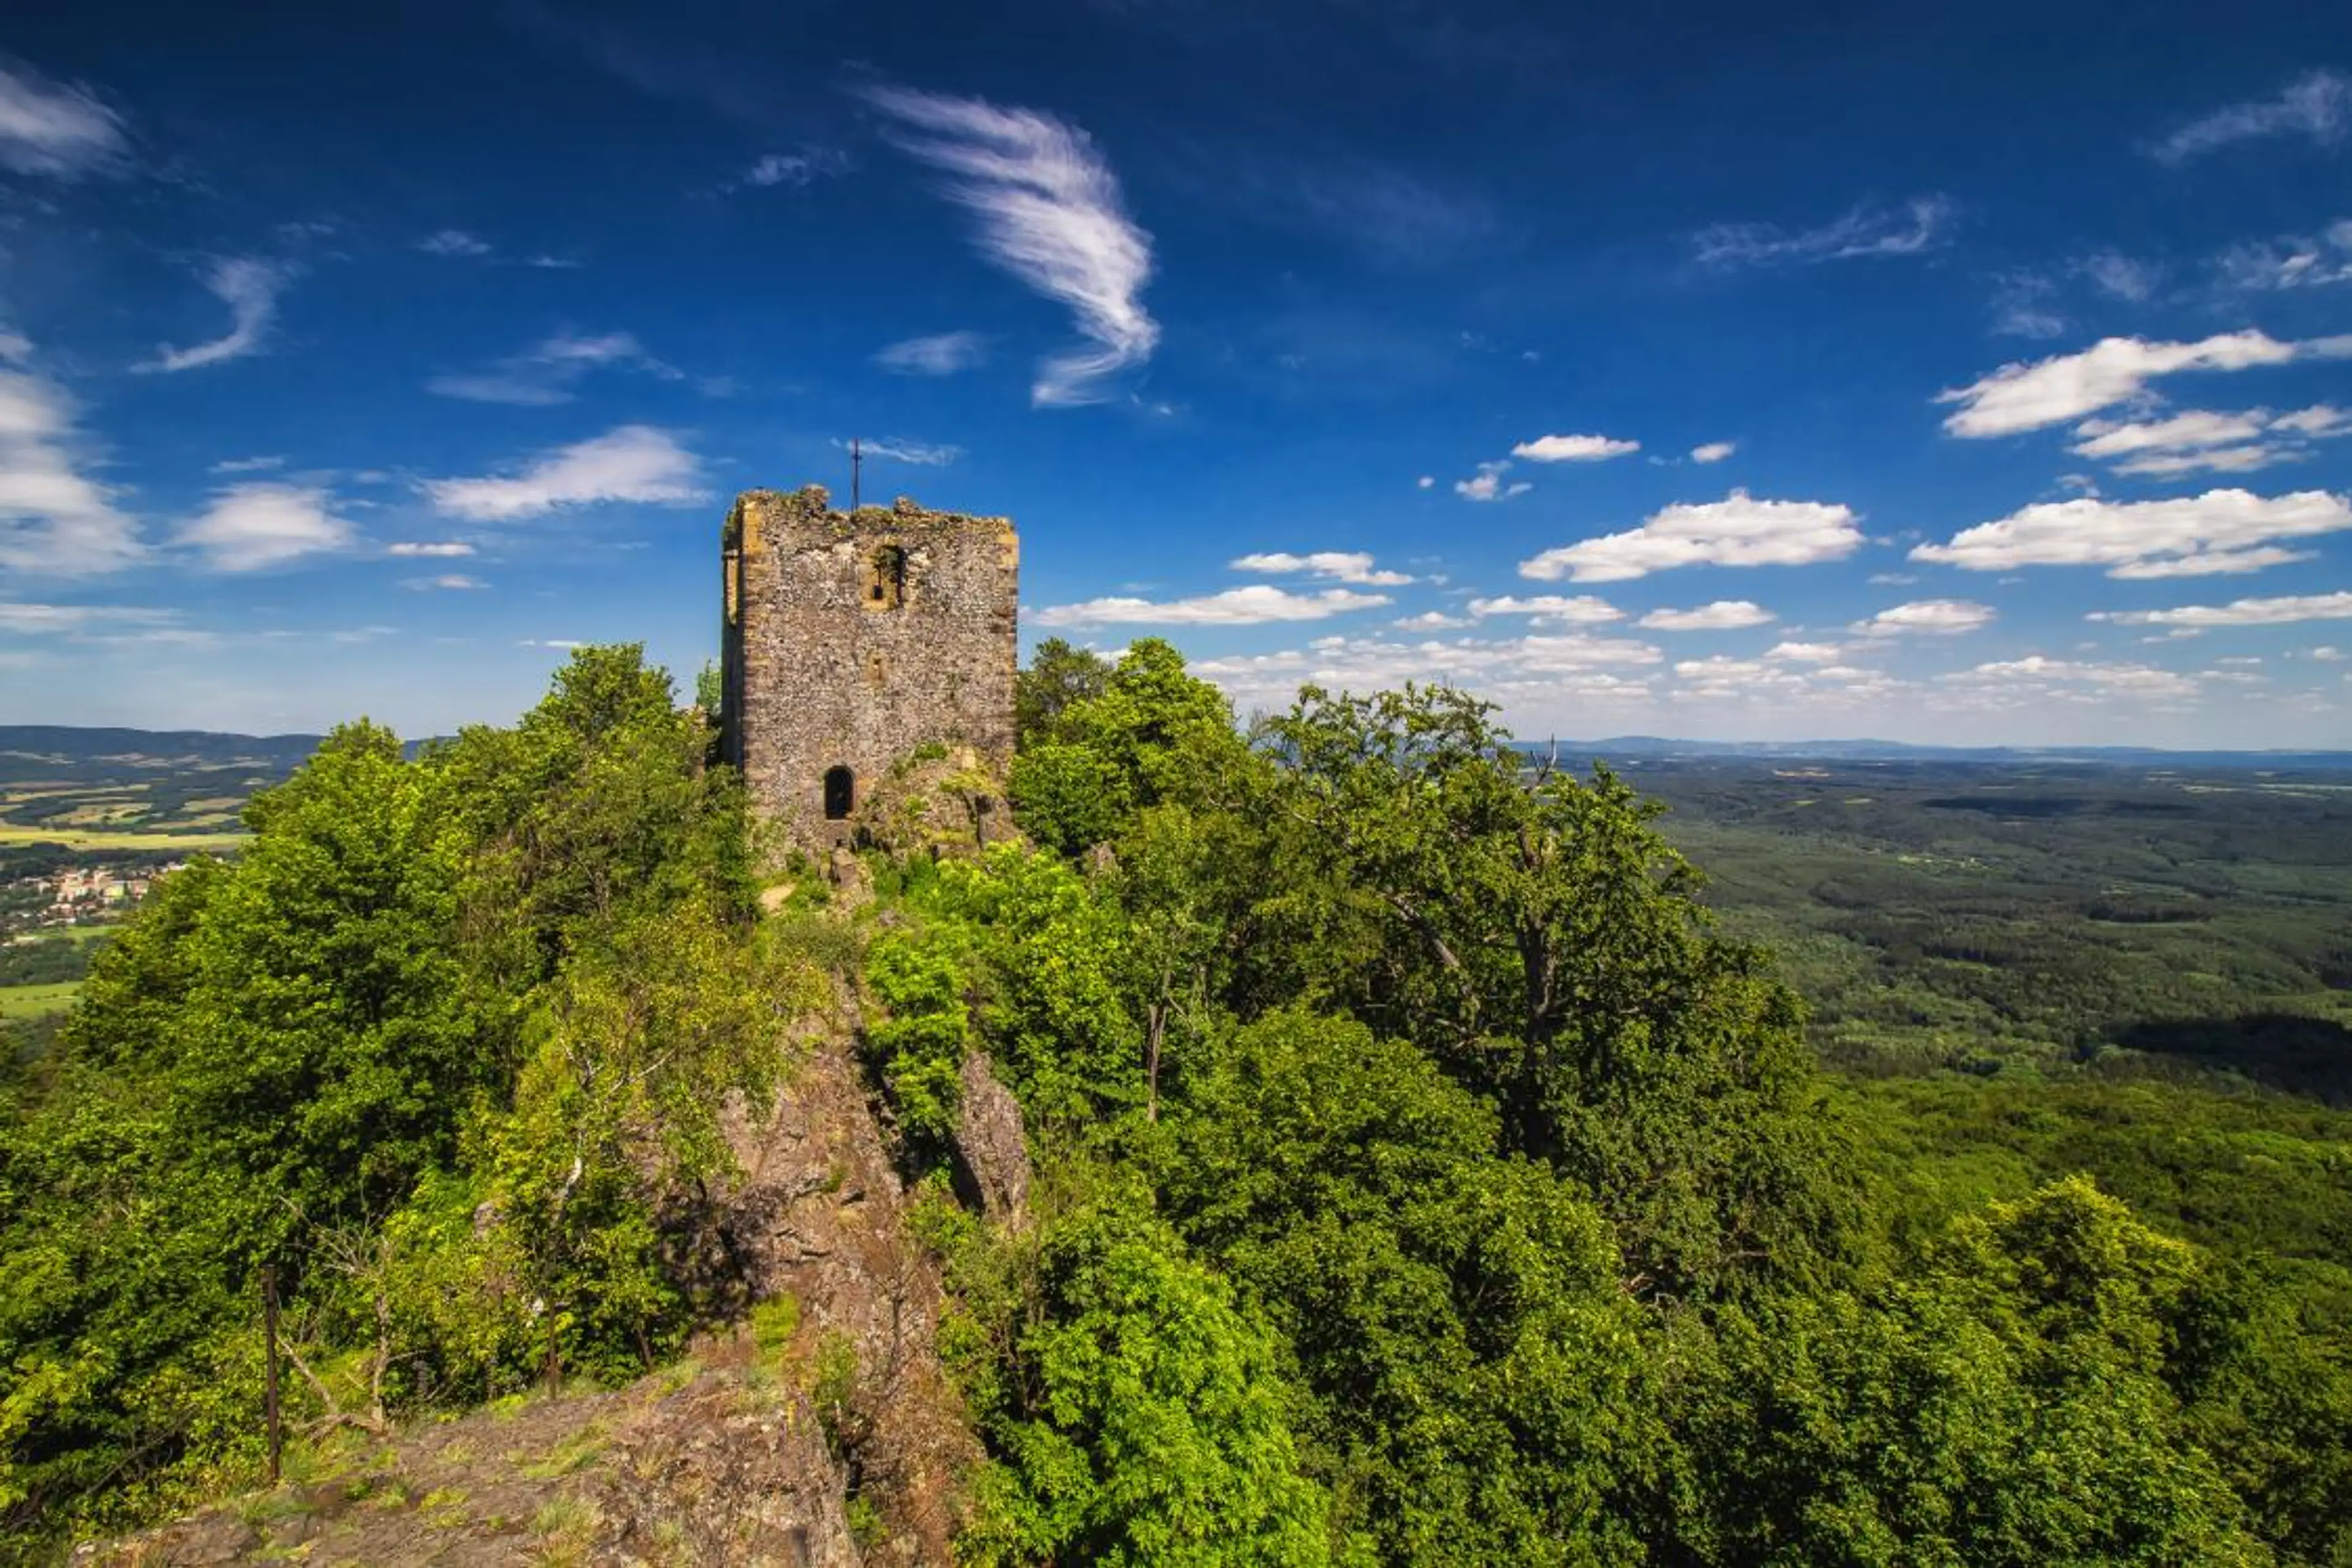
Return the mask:
[[2279, 564], [2263, 555], [2281, 538], [2352, 529], [2352, 505], [2321, 489], [2256, 496], [2209, 489], [2169, 501], [2044, 501], [1962, 529], [1943, 545], [1917, 545], [1917, 562], [1966, 571], [2018, 567], [2107, 567], [2107, 576], [2209, 576]]

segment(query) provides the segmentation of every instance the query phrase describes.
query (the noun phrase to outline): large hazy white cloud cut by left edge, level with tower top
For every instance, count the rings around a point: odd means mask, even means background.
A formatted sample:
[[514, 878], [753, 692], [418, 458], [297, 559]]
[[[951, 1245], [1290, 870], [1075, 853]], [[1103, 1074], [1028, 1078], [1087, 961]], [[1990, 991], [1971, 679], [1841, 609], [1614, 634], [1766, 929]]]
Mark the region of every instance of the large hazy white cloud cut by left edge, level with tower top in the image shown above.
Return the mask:
[[89, 480], [75, 404], [31, 371], [0, 371], [0, 567], [115, 571], [146, 557], [139, 524]]

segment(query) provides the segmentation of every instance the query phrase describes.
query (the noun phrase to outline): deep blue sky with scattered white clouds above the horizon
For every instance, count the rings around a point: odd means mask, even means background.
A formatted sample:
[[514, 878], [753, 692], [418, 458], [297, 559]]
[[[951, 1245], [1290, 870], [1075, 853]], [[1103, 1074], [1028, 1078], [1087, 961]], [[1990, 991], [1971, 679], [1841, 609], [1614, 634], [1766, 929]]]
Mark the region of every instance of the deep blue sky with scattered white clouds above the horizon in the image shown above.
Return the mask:
[[691, 672], [856, 435], [1244, 710], [2352, 745], [2352, 12], [24, 9], [0, 722]]

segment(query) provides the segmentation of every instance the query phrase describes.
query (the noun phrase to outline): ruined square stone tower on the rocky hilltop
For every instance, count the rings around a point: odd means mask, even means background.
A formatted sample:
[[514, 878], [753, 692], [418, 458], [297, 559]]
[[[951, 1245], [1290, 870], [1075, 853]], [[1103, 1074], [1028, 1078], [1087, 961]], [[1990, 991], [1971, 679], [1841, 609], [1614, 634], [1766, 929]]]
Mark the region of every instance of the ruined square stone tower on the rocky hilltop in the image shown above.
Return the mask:
[[1011, 762], [1009, 520], [755, 489], [727, 515], [722, 559], [724, 757], [795, 844], [847, 842], [866, 790], [920, 745]]

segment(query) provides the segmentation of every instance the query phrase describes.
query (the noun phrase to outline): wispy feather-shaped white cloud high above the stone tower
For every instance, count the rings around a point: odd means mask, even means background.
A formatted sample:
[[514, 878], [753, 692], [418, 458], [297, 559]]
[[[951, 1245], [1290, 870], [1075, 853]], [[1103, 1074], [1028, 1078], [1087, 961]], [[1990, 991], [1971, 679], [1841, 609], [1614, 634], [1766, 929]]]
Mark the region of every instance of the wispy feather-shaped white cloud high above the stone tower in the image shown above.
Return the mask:
[[1160, 343], [1143, 308], [1152, 275], [1150, 235], [1120, 200], [1120, 181], [1087, 132], [1025, 108], [875, 87], [866, 101], [910, 127], [915, 158], [955, 176], [948, 200], [981, 223], [981, 249], [1047, 299], [1070, 306], [1094, 348], [1037, 367], [1030, 402], [1101, 402], [1101, 381], [1141, 364]]

